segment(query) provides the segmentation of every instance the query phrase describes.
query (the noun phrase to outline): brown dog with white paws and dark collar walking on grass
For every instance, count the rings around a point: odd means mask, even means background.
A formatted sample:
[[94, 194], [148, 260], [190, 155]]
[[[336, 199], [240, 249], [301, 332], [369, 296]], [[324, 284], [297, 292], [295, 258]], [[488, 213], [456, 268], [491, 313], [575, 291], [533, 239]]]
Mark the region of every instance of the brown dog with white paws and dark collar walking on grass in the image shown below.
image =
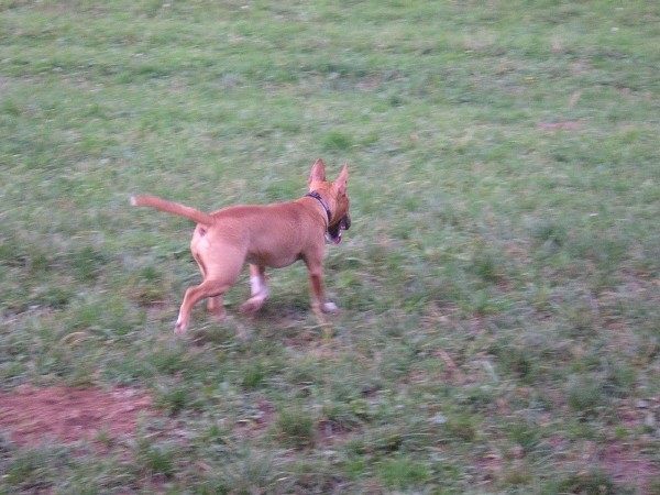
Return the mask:
[[309, 173], [309, 193], [290, 202], [267, 206], [234, 206], [205, 213], [154, 196], [131, 198], [132, 205], [148, 206], [197, 222], [190, 251], [201, 271], [200, 285], [186, 290], [174, 328], [185, 333], [190, 310], [209, 298], [208, 309], [218, 319], [224, 317], [222, 294], [239, 278], [245, 262], [250, 264], [251, 297], [242, 306], [251, 314], [262, 307], [268, 289], [266, 267], [282, 268], [302, 260], [309, 270], [311, 307], [322, 321], [322, 312], [337, 306], [326, 300], [323, 286], [324, 241], [339, 244], [341, 231], [351, 227], [346, 182], [348, 165], [333, 182], [326, 182], [323, 162], [316, 161]]

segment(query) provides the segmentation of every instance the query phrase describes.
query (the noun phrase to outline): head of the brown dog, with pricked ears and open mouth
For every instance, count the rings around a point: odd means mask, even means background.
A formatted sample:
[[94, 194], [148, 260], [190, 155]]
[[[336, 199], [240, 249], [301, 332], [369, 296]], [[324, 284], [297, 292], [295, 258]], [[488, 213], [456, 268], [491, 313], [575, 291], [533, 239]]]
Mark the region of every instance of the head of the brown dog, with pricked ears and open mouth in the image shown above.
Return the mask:
[[339, 177], [334, 182], [326, 180], [326, 166], [321, 158], [317, 160], [311, 167], [307, 184], [309, 191], [316, 193], [326, 202], [323, 208], [328, 211], [328, 232], [326, 239], [339, 244], [341, 231], [351, 228], [351, 215], [349, 213], [350, 198], [346, 193], [349, 182], [349, 166], [344, 165]]

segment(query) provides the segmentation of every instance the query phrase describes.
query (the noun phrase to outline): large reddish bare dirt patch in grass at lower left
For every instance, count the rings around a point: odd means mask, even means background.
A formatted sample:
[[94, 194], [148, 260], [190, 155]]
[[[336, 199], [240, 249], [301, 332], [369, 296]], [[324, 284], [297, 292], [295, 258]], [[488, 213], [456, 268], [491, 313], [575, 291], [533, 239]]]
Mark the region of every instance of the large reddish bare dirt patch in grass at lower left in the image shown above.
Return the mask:
[[74, 388], [31, 385], [0, 393], [0, 426], [11, 441], [37, 446], [48, 440], [72, 443], [132, 435], [152, 398], [134, 388]]

